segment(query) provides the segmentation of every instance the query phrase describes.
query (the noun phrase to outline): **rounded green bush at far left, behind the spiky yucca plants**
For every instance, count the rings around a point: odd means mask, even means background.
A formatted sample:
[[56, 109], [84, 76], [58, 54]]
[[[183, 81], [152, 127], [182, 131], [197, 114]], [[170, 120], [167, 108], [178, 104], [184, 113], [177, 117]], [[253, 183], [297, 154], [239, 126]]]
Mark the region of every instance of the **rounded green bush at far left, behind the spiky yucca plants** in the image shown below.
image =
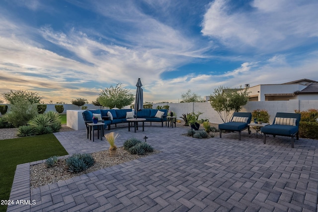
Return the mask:
[[27, 100], [20, 100], [11, 105], [11, 111], [4, 115], [4, 119], [14, 127], [26, 125], [29, 120], [38, 114], [37, 104]]

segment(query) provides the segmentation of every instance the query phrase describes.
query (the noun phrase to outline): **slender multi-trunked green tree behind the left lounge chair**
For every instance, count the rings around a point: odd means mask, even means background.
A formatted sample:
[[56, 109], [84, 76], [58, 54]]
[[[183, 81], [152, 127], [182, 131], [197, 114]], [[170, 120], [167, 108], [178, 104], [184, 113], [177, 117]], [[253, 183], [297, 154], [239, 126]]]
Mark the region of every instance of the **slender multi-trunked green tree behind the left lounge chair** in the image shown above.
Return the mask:
[[239, 112], [247, 102], [247, 89], [242, 89], [241, 86], [236, 89], [220, 86], [215, 88], [213, 94], [210, 95], [210, 104], [224, 123], [228, 122], [232, 111]]

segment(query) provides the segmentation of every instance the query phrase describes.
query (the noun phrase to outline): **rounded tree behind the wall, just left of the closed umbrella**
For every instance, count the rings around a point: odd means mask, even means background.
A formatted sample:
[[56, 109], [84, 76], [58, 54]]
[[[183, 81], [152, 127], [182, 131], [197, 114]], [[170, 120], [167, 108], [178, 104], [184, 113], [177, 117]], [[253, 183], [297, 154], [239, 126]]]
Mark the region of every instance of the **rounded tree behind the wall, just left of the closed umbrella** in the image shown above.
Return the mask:
[[98, 96], [99, 103], [109, 108], [117, 107], [121, 109], [130, 105], [134, 100], [134, 94], [130, 93], [130, 89], [123, 88], [121, 83], [118, 83], [115, 87], [110, 85], [109, 88], [101, 90]]

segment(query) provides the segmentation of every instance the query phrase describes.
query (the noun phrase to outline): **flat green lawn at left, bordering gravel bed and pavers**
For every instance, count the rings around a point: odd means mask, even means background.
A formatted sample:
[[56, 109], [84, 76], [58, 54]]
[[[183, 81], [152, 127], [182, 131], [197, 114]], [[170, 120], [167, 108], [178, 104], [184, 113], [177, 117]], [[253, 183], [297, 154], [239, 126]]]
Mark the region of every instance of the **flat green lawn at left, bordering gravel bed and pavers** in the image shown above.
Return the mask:
[[[0, 146], [0, 200], [9, 199], [16, 165], [68, 154], [53, 134], [0, 140]], [[0, 212], [6, 208], [0, 205]]]

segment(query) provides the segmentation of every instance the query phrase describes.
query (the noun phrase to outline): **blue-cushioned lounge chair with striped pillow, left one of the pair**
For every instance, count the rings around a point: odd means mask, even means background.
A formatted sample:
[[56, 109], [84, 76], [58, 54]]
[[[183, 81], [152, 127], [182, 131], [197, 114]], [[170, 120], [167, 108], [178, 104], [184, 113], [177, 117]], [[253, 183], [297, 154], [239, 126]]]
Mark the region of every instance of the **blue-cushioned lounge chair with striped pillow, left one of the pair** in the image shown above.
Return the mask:
[[234, 112], [230, 122], [219, 124], [220, 138], [222, 138], [222, 130], [237, 131], [239, 132], [239, 141], [240, 141], [241, 131], [248, 129], [248, 134], [250, 134], [248, 124], [250, 123], [251, 118], [252, 118], [251, 113]]

